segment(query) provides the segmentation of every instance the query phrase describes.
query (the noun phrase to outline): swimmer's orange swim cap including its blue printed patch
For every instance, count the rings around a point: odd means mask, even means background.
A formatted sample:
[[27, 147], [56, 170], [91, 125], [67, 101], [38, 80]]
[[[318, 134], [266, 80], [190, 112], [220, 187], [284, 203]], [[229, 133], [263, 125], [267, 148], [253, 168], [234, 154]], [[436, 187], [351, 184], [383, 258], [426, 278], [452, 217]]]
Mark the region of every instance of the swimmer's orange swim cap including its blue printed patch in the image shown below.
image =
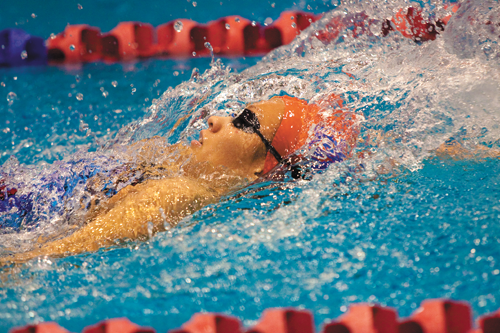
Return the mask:
[[[316, 168], [324, 169], [350, 153], [359, 134], [357, 126], [354, 126], [357, 124], [356, 116], [341, 109], [343, 101], [338, 95], [332, 94], [317, 104], [308, 104], [303, 99], [290, 96], [276, 98], [285, 104], [285, 112], [272, 145], [282, 157], [308, 143], [311, 158], [317, 162]], [[268, 173], [277, 164], [268, 152], [263, 173]]]

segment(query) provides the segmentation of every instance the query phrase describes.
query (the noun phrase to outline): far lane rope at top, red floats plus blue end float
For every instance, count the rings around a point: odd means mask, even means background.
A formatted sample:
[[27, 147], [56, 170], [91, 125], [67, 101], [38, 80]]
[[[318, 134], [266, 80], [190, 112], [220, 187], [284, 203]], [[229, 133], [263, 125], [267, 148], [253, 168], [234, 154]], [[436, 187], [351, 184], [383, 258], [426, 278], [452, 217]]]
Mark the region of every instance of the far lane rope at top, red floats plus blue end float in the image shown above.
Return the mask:
[[[458, 5], [450, 5], [456, 12]], [[268, 26], [251, 22], [241, 16], [227, 16], [207, 24], [179, 19], [156, 28], [148, 23], [122, 22], [102, 34], [99, 28], [85, 24], [68, 25], [57, 36], [50, 37], [46, 46], [38, 37], [19, 29], [0, 32], [0, 66], [76, 64], [94, 61], [118, 62], [153, 56], [186, 58], [209, 56], [210, 50], [223, 56], [264, 55], [281, 45], [289, 44], [300, 32], [322, 17], [300, 11], [286, 11]], [[417, 42], [434, 40], [451, 15], [428, 22], [422, 11], [408, 7], [383, 22], [382, 35], [399, 31]], [[339, 37], [346, 27], [353, 27], [353, 37], [371, 33], [367, 26], [373, 20], [364, 13], [355, 16], [334, 17], [315, 37], [329, 43]], [[15, 43], [11, 41], [15, 40]]]

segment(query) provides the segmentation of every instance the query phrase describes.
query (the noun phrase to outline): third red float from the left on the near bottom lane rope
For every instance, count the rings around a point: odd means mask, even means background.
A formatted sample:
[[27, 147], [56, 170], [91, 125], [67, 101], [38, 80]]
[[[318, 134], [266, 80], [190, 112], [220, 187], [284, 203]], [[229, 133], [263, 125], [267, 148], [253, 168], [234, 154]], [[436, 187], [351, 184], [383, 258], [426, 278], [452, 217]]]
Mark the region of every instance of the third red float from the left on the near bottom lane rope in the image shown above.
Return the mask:
[[169, 333], [242, 333], [240, 321], [231, 316], [214, 313], [197, 313], [182, 325]]

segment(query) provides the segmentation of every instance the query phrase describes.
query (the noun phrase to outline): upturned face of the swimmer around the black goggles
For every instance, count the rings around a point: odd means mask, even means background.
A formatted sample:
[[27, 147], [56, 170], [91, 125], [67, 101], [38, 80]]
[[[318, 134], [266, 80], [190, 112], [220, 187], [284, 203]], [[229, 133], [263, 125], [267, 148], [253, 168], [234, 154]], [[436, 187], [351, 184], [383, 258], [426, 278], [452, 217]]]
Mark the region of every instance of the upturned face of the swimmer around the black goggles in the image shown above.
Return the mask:
[[[260, 123], [260, 132], [272, 142], [281, 124], [285, 105], [280, 98], [272, 98], [246, 107], [253, 111]], [[198, 162], [223, 166], [244, 177], [255, 178], [262, 172], [266, 147], [256, 133], [247, 133], [234, 127], [232, 117], [210, 117], [209, 128], [200, 132], [200, 139], [191, 142]]]

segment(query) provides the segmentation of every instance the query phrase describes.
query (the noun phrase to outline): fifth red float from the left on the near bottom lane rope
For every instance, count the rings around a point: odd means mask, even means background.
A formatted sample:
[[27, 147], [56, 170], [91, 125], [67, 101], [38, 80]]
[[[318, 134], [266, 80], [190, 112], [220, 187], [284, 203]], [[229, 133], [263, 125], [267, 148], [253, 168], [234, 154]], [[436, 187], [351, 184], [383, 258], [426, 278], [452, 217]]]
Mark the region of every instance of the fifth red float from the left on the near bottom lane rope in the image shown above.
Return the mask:
[[351, 333], [397, 333], [397, 314], [392, 308], [355, 304], [340, 317]]

